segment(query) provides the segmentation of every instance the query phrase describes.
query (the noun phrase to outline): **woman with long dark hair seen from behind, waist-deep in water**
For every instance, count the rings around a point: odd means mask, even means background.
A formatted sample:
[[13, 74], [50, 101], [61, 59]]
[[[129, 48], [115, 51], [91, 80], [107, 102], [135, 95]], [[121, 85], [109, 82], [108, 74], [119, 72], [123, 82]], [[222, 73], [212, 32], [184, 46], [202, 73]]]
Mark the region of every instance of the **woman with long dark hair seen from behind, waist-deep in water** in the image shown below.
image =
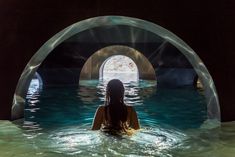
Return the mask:
[[132, 106], [123, 101], [124, 86], [118, 79], [109, 81], [106, 88], [105, 105], [97, 108], [93, 120], [92, 130], [109, 133], [131, 134], [140, 128], [137, 114]]

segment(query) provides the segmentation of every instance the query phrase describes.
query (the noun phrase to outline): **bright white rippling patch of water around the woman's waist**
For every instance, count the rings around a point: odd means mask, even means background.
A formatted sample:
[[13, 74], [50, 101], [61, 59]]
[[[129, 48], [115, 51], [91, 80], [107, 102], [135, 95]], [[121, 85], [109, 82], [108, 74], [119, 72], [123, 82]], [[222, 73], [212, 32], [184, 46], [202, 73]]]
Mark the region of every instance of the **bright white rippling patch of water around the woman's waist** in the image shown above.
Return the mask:
[[176, 147], [186, 135], [167, 129], [143, 128], [133, 136], [115, 137], [99, 131], [70, 127], [51, 132], [49, 138], [52, 148], [61, 153], [150, 156]]

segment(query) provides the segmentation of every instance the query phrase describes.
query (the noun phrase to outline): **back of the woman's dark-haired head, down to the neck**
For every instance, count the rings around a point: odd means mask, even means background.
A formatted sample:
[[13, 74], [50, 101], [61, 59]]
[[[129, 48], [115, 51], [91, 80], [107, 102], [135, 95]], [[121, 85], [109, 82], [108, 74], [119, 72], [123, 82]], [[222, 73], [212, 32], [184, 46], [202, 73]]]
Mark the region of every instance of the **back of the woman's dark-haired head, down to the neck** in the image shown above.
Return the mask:
[[123, 103], [123, 97], [124, 97], [123, 83], [118, 79], [113, 79], [109, 81], [106, 87], [106, 99], [108, 99], [108, 103], [110, 102]]

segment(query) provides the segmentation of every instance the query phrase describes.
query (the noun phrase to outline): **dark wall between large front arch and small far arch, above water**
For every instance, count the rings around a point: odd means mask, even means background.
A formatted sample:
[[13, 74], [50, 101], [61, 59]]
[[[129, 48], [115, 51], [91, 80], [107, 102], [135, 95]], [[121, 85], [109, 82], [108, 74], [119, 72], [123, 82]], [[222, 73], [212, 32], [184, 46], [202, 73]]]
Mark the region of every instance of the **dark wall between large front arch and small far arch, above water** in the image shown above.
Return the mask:
[[[111, 38], [110, 32], [115, 38]], [[94, 52], [118, 45], [141, 52], [155, 69], [159, 86], [190, 85], [197, 75], [188, 59], [175, 46], [149, 31], [122, 25], [93, 28], [70, 37], [47, 56], [38, 72], [45, 85], [76, 85], [79, 72]]]

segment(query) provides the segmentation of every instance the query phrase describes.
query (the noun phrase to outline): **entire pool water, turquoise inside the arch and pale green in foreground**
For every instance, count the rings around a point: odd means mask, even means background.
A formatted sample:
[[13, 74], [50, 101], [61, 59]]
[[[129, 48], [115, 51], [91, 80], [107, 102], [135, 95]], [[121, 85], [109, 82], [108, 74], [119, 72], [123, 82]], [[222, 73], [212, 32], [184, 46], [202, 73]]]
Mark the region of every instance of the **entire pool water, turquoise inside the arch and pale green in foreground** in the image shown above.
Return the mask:
[[[213, 128], [206, 121], [200, 91], [156, 89], [151, 82], [126, 84], [125, 100], [135, 106], [141, 130], [114, 137], [91, 131], [104, 88], [46, 88], [28, 95], [25, 120], [0, 121], [0, 156], [160, 156], [233, 157], [235, 124]], [[211, 129], [209, 129], [211, 128]]]

